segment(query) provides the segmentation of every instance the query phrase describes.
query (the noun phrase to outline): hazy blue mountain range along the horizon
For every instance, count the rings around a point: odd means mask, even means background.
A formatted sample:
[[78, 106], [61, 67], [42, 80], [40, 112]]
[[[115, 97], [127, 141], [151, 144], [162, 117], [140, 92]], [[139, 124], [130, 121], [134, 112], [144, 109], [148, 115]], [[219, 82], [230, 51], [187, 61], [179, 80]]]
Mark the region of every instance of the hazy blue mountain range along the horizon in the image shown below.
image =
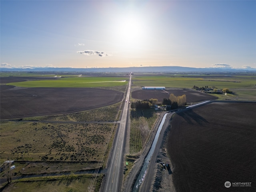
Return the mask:
[[216, 72], [256, 72], [256, 68], [192, 68], [180, 66], [124, 67], [124, 68], [0, 68], [1, 72], [133, 72], [133, 73], [216, 73]]

